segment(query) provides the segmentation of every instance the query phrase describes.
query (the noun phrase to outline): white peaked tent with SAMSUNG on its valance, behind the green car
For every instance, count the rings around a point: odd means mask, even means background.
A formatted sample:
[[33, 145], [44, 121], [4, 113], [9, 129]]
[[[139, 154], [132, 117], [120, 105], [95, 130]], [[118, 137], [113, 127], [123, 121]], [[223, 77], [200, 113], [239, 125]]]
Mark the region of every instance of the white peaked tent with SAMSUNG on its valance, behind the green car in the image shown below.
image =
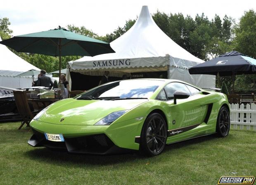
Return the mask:
[[168, 37], [156, 25], [147, 6], [142, 7], [133, 27], [110, 45], [116, 53], [70, 61], [67, 77], [69, 71], [96, 76], [110, 71], [110, 76], [120, 77], [124, 73], [167, 71], [168, 79], [182, 80], [199, 87], [215, 87], [215, 76], [189, 74], [190, 67], [204, 61]]

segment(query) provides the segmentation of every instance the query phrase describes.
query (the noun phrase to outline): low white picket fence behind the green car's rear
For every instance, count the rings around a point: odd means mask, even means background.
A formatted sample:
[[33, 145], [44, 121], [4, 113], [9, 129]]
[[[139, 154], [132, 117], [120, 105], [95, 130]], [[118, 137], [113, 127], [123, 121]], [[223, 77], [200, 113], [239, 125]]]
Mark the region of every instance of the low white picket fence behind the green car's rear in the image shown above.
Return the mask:
[[237, 129], [238, 125], [240, 129], [244, 129], [246, 126], [247, 130], [250, 130], [253, 127], [256, 130], [256, 104], [231, 104], [231, 124], [234, 125], [234, 128]]

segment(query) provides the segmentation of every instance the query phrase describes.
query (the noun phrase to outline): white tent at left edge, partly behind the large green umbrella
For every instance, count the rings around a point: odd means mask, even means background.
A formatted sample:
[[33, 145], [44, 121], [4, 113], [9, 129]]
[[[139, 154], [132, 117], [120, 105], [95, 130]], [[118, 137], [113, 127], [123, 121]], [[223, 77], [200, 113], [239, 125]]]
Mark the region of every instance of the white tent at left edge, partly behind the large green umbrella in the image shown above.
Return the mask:
[[[0, 41], [2, 41], [1, 37]], [[0, 86], [8, 88], [31, 87], [32, 76], [14, 77], [30, 69], [40, 71], [39, 68], [26, 62], [6, 46], [0, 44]], [[37, 76], [34, 77], [34, 80], [36, 80]]]

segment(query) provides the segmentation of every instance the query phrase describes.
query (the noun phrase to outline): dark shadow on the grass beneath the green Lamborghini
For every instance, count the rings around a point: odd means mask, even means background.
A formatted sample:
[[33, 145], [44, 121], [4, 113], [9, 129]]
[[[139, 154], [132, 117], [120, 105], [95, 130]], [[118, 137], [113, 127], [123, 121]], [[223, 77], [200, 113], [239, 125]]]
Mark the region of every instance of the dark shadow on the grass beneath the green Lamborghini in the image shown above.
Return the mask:
[[[218, 139], [216, 134], [209, 136], [202, 136], [196, 139], [190, 139], [187, 141], [181, 141], [178, 143], [173, 143], [166, 145], [164, 153], [171, 152], [172, 150], [177, 150], [179, 148], [185, 148], [186, 146], [191, 146], [194, 144], [200, 144], [203, 142]], [[143, 157], [136, 154], [123, 154], [123, 155], [74, 155], [66, 152], [57, 152], [49, 150], [48, 148], [34, 148], [30, 151], [24, 153], [25, 157], [29, 157], [31, 160], [36, 160], [39, 162], [48, 162], [58, 165], [72, 165], [76, 164], [78, 166], [86, 165], [109, 165], [109, 164], [119, 164], [130, 161], [135, 162], [147, 162], [149, 157]], [[156, 156], [159, 157], [159, 156]], [[161, 155], [160, 155], [161, 157]], [[170, 156], [171, 157], [171, 156]]]

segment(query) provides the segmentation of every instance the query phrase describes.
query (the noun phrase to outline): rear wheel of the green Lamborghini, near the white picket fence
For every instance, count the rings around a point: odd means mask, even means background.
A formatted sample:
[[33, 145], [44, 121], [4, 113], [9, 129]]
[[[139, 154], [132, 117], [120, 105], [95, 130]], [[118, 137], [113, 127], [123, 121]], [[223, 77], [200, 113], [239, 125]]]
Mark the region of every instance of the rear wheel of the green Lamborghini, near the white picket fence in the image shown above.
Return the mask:
[[219, 136], [228, 136], [230, 130], [230, 113], [227, 107], [222, 106], [218, 113], [216, 132]]

